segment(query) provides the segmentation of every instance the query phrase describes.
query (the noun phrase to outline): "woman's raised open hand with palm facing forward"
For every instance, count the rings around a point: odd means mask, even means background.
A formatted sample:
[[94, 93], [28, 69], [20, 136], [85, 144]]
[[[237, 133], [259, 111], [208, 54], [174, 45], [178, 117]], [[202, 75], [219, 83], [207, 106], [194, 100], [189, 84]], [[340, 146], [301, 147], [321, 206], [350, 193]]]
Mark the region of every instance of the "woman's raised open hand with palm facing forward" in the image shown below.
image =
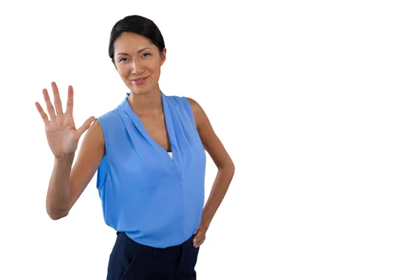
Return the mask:
[[90, 127], [94, 117], [88, 118], [80, 128], [76, 129], [73, 119], [73, 87], [69, 85], [66, 113], [63, 113], [58, 87], [55, 82], [52, 82], [51, 86], [55, 106], [51, 104], [48, 91], [46, 89], [42, 91], [50, 119], [48, 119], [47, 114], [38, 102], [35, 102], [35, 106], [45, 124], [48, 145], [55, 158], [60, 159], [73, 155], [76, 152], [80, 137]]

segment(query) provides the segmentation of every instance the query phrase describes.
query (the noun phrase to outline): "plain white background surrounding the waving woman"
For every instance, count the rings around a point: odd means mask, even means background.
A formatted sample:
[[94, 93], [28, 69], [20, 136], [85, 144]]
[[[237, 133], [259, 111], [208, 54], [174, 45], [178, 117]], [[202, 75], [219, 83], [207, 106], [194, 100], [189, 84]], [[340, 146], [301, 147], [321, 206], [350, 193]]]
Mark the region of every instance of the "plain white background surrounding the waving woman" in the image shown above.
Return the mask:
[[[57, 82], [76, 125], [122, 102], [113, 24], [153, 20], [160, 87], [207, 112], [234, 180], [198, 279], [420, 279], [416, 1], [1, 2], [0, 279], [105, 279], [116, 238], [92, 180], [52, 221], [34, 102]], [[216, 176], [208, 157], [206, 193]]]

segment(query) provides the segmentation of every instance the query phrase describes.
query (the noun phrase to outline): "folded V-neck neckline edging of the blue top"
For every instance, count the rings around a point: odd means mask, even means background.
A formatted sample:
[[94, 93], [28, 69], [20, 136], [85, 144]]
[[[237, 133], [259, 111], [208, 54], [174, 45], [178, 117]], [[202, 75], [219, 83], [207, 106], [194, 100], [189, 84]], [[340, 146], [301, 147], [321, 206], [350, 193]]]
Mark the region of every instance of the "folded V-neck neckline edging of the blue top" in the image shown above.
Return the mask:
[[[172, 162], [175, 163], [176, 159], [178, 157], [178, 155], [177, 155], [178, 154], [177, 153], [178, 145], [176, 143], [174, 125], [172, 123], [172, 116], [171, 116], [171, 112], [169, 110], [169, 106], [167, 104], [167, 99], [165, 98], [165, 94], [163, 94], [163, 92], [160, 91], [160, 97], [162, 99], [163, 116], [164, 116], [164, 120], [165, 120], [165, 127], [166, 127], [167, 134], [168, 134], [168, 137], [169, 137], [169, 147], [171, 148], [171, 152], [166, 151], [165, 148], [160, 146], [158, 141], [153, 139], [153, 137], [151, 137], [151, 135], [147, 132], [146, 127], [144, 127], [144, 124], [141, 121], [141, 118], [137, 115], [137, 113], [134, 113], [130, 102], [128, 102], [128, 97], [129, 96], [130, 96], [130, 92], [127, 93], [127, 97], [125, 98], [125, 111], [128, 113], [128, 115], [132, 119], [134, 125], [140, 130], [141, 134], [143, 134], [144, 137], [146, 137], [146, 139], [148, 139], [149, 143], [152, 144], [155, 147], [155, 149], [157, 149], [161, 153], [165, 153], [166, 157], [169, 160], [171, 160]], [[171, 158], [171, 155], [169, 155], [169, 153], [172, 153], [172, 158]]]

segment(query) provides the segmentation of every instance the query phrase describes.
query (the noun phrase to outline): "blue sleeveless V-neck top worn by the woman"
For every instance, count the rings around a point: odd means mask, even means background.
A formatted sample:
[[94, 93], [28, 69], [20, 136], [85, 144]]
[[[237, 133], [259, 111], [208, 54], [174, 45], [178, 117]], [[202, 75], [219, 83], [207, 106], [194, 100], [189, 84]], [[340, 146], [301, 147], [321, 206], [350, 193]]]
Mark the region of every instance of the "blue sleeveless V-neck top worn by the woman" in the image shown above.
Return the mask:
[[161, 92], [172, 157], [146, 132], [127, 97], [97, 118], [106, 155], [97, 189], [106, 225], [139, 244], [166, 248], [198, 228], [204, 207], [206, 154], [185, 97]]

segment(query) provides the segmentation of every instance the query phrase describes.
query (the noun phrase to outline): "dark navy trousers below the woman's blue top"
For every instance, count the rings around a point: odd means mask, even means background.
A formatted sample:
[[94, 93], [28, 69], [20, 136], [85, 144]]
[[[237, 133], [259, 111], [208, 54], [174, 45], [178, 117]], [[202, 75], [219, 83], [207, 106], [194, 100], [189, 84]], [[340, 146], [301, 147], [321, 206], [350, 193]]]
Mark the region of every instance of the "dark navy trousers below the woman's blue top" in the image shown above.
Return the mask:
[[195, 280], [199, 249], [193, 237], [178, 246], [154, 248], [117, 232], [106, 280]]

